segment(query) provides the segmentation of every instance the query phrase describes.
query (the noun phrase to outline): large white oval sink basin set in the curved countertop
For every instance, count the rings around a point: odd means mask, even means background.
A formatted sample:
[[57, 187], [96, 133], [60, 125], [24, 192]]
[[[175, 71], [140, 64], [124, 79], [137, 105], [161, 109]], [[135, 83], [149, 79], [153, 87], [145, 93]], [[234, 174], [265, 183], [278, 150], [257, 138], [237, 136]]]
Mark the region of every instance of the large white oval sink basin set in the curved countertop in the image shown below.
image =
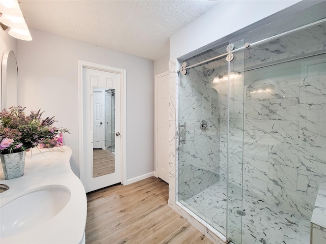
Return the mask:
[[0, 236], [35, 228], [55, 217], [67, 205], [70, 191], [63, 186], [47, 186], [15, 198], [0, 208]]

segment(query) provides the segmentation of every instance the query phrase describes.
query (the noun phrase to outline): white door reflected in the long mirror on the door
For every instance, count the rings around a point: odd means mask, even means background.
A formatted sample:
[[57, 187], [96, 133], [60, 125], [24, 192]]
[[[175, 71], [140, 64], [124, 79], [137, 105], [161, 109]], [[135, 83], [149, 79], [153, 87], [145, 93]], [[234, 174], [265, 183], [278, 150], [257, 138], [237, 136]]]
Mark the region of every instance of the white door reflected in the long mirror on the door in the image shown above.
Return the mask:
[[93, 148], [103, 148], [104, 145], [104, 90], [94, 90], [93, 116]]

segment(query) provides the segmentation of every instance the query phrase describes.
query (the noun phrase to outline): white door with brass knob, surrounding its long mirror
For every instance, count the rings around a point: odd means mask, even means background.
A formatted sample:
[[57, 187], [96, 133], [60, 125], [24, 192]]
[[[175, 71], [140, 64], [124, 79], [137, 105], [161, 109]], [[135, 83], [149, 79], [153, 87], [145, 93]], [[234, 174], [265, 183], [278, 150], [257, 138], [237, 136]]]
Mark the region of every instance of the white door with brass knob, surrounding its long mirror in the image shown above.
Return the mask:
[[[121, 182], [121, 98], [120, 98], [120, 74], [83, 68], [83, 119], [84, 119], [84, 187], [86, 192]], [[97, 89], [115, 89], [115, 161], [114, 172], [93, 177], [93, 135], [96, 128], [94, 116], [94, 96]], [[103, 114], [102, 114], [103, 117]], [[103, 134], [102, 134], [103, 135]], [[102, 138], [104, 141], [104, 137]], [[101, 146], [102, 147], [102, 146]]]

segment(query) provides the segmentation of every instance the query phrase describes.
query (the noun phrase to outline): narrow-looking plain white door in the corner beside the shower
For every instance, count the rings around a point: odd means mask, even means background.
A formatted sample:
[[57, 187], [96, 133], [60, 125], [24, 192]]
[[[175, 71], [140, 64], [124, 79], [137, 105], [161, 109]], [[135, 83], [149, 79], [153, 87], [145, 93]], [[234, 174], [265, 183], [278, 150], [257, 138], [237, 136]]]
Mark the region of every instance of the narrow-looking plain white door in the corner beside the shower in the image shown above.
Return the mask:
[[155, 159], [156, 173], [169, 183], [169, 75], [155, 76]]

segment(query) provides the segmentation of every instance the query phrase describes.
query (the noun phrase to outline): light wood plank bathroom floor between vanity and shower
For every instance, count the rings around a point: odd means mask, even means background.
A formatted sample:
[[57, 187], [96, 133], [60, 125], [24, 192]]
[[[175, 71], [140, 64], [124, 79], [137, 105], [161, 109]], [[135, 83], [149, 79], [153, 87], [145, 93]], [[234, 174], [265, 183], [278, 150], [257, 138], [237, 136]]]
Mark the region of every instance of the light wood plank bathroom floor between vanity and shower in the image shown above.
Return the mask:
[[150, 177], [87, 194], [87, 244], [211, 244], [168, 205], [168, 184]]

